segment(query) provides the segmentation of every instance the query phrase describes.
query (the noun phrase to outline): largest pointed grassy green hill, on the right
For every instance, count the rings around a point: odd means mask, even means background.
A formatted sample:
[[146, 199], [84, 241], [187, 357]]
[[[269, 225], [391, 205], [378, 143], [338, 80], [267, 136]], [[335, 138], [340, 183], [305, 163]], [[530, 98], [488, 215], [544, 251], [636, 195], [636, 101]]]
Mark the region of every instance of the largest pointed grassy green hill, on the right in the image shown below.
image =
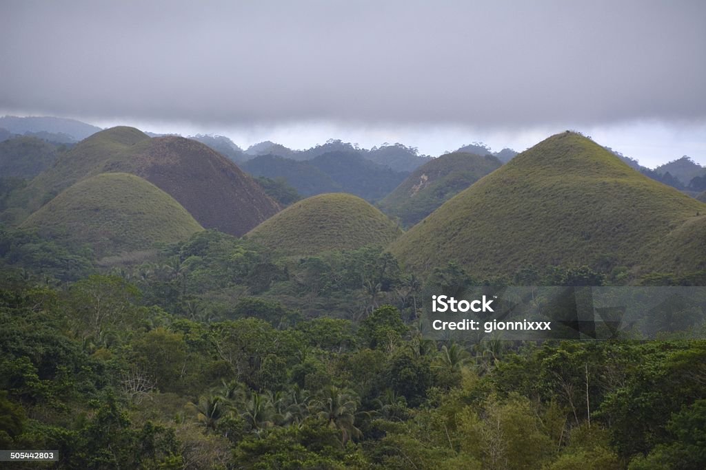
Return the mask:
[[706, 250], [688, 245], [662, 266], [655, 255], [697, 214], [706, 214], [702, 202], [564, 132], [457, 194], [390, 250], [417, 271], [457, 261], [480, 277], [530, 264], [680, 272], [700, 264]]

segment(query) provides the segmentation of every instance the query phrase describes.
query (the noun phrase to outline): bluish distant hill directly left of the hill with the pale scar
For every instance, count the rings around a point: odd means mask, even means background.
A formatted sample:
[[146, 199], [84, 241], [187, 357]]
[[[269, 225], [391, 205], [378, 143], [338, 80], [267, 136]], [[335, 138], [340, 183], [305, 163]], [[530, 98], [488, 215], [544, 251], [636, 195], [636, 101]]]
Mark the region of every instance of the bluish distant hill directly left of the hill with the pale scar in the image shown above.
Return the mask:
[[309, 163], [329, 175], [344, 192], [370, 202], [385, 197], [408, 175], [349, 152], [329, 152], [317, 156]]

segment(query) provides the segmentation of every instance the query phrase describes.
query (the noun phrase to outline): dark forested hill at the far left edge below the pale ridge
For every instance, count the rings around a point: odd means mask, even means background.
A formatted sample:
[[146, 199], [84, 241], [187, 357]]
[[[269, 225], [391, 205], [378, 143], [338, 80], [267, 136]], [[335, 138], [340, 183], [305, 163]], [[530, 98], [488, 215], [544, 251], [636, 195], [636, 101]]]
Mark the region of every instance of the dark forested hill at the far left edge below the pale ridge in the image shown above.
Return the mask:
[[0, 178], [34, 178], [52, 166], [59, 147], [37, 137], [12, 137], [0, 142]]

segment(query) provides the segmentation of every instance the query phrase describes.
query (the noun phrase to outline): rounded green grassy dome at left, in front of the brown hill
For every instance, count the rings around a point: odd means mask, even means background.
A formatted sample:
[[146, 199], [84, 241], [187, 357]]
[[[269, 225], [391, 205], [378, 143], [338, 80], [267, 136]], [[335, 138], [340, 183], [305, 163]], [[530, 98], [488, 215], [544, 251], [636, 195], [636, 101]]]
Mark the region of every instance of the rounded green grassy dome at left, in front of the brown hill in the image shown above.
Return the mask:
[[97, 256], [186, 240], [201, 225], [169, 194], [127, 173], [103, 173], [76, 183], [21, 225]]

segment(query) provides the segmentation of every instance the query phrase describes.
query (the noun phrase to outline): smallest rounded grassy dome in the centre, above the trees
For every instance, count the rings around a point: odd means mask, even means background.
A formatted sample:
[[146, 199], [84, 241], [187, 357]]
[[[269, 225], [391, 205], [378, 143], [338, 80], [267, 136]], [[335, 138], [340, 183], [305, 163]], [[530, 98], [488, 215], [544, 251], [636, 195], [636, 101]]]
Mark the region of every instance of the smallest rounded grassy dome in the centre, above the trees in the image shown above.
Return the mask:
[[352, 194], [319, 194], [299, 201], [248, 237], [286, 254], [388, 245], [402, 233], [381, 211]]

